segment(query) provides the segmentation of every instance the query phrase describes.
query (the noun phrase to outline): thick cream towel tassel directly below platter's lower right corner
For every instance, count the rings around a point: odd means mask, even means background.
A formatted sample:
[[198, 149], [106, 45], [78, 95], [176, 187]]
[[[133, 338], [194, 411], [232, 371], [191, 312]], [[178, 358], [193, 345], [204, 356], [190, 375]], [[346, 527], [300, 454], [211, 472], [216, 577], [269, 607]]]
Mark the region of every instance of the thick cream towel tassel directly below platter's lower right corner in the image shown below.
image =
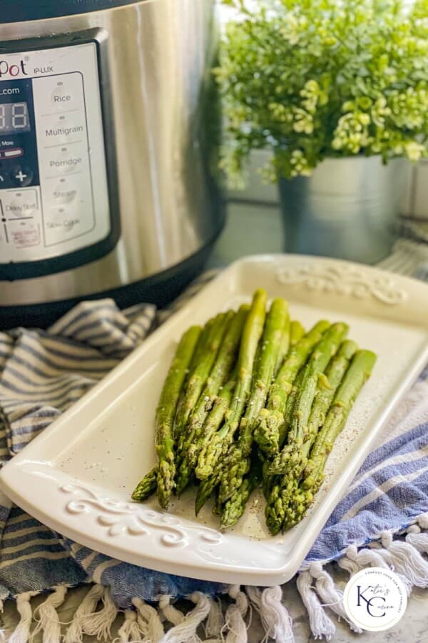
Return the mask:
[[245, 587], [248, 598], [260, 614], [265, 628], [265, 640], [272, 638], [279, 643], [292, 643], [292, 620], [282, 604], [282, 589], [279, 585], [260, 591], [257, 587]]

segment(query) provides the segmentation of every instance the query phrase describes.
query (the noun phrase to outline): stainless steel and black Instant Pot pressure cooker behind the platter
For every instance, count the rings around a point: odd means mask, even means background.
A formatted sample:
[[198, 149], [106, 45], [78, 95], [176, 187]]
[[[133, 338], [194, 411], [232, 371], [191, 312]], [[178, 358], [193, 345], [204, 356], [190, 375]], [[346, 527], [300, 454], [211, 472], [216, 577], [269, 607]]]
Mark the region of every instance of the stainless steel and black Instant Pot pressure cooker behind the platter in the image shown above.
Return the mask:
[[165, 304], [224, 219], [212, 0], [0, 0], [0, 327]]

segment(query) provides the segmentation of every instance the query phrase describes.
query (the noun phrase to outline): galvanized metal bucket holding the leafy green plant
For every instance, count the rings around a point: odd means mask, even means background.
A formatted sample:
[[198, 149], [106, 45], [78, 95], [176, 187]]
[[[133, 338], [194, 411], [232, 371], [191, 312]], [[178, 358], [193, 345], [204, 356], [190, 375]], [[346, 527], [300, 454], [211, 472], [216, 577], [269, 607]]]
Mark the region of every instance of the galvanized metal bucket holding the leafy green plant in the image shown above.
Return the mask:
[[285, 250], [373, 264], [389, 254], [408, 161], [325, 159], [312, 176], [280, 179]]

